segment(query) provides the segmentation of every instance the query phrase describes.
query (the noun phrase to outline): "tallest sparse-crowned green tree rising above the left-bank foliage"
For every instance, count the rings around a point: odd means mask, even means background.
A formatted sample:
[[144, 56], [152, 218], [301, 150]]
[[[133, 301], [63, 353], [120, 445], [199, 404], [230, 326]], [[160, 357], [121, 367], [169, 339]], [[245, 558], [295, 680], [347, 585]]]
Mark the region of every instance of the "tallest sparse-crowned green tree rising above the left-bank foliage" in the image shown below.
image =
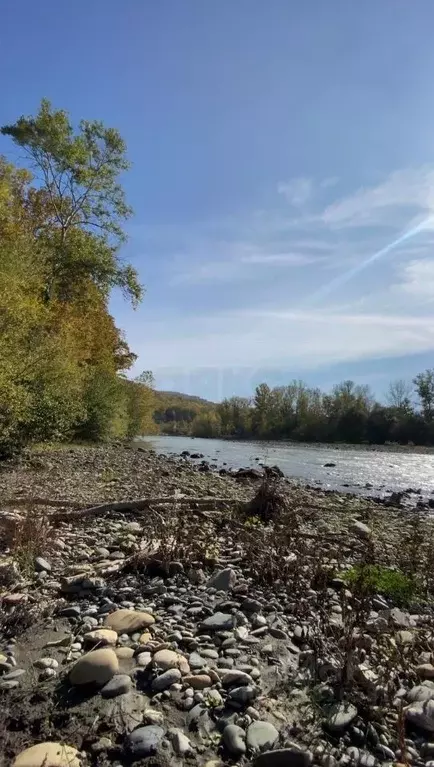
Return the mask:
[[34, 196], [46, 212], [39, 238], [49, 246], [47, 300], [88, 277], [106, 294], [120, 287], [137, 305], [143, 294], [137, 273], [117, 256], [132, 212], [118, 183], [129, 167], [118, 131], [82, 120], [74, 132], [68, 113], [43, 99], [36, 117], [20, 117], [1, 132], [24, 149], [41, 184]]

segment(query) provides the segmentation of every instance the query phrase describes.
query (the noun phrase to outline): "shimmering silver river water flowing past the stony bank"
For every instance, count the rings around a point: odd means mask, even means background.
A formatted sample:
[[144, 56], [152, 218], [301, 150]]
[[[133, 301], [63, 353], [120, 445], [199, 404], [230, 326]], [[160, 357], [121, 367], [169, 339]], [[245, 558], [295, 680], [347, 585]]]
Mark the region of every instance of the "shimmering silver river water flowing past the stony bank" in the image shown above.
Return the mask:
[[[183, 450], [203, 453], [219, 468], [258, 466], [259, 462], [277, 465], [288, 477], [328, 489], [384, 496], [393, 490], [413, 488], [420, 489], [424, 497], [434, 491], [434, 453], [190, 437], [142, 439], [165, 455], [179, 455]], [[336, 465], [326, 467], [327, 463]]]

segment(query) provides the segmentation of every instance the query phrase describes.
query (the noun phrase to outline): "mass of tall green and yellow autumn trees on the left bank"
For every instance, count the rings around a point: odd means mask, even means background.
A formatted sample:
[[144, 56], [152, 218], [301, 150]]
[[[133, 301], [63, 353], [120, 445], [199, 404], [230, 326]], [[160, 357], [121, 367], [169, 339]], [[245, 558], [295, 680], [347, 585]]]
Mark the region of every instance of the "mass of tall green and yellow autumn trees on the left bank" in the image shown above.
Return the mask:
[[152, 431], [150, 377], [108, 310], [113, 289], [142, 298], [119, 258], [131, 213], [119, 133], [41, 103], [4, 126], [25, 168], [0, 157], [0, 458], [43, 440]]

